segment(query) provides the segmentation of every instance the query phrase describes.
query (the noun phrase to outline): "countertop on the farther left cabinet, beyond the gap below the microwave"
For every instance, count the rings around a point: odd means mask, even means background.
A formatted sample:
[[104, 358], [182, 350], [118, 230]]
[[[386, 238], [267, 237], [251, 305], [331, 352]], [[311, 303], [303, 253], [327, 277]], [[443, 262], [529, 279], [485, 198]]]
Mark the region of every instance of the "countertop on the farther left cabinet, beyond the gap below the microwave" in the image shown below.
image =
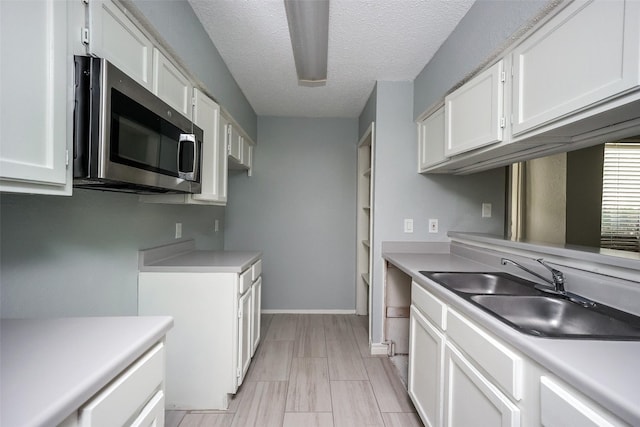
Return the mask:
[[140, 251], [142, 272], [242, 273], [262, 257], [258, 251], [206, 251], [192, 240]]

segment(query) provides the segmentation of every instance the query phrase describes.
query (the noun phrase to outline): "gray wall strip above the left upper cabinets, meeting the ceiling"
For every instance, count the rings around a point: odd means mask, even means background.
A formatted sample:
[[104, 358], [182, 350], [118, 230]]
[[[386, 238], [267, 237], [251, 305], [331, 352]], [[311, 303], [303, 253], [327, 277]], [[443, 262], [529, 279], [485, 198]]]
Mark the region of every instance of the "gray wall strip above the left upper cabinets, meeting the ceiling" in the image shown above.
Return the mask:
[[129, 0], [245, 132], [257, 140], [256, 113], [187, 0]]

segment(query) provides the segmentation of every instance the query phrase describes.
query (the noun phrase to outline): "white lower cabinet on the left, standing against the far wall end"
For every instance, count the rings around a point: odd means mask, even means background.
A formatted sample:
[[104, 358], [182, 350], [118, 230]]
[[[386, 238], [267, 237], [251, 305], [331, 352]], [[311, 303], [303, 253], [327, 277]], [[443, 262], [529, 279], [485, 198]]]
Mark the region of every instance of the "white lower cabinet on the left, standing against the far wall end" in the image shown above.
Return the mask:
[[[168, 409], [228, 408], [259, 341], [252, 335], [260, 316], [253, 270], [139, 273], [138, 313], [174, 318], [166, 338]], [[249, 285], [241, 285], [247, 277]]]

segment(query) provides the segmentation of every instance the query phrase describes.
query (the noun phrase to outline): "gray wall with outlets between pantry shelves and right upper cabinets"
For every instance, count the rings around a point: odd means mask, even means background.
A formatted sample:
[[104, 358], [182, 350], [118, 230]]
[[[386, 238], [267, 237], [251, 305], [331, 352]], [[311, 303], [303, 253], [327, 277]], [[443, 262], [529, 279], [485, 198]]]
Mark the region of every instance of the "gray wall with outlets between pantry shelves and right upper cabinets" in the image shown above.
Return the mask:
[[[382, 242], [448, 241], [448, 231], [502, 233], [504, 170], [471, 176], [418, 174], [411, 82], [378, 82], [376, 111], [372, 341], [381, 342]], [[493, 205], [492, 218], [481, 217], [483, 202]], [[413, 219], [411, 234], [403, 231], [405, 218]], [[428, 233], [429, 218], [439, 220], [437, 234]]]

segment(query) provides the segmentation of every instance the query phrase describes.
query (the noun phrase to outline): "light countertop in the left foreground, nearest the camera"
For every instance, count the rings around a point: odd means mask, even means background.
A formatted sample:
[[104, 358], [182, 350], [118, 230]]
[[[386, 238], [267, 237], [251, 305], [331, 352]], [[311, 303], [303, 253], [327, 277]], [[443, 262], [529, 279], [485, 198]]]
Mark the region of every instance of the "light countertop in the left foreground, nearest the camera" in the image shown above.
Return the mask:
[[0, 325], [0, 425], [54, 426], [161, 340], [173, 319], [2, 319]]

